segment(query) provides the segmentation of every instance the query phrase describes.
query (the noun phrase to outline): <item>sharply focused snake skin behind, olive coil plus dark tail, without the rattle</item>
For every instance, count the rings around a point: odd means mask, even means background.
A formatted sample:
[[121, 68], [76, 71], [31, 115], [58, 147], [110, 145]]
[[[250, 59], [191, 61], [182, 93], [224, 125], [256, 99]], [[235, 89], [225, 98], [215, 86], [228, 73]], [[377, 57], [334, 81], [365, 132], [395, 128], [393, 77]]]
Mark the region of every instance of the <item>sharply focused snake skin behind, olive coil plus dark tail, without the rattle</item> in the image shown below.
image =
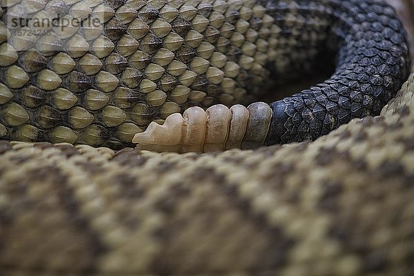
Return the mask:
[[[150, 121], [188, 106], [257, 100], [328, 67], [321, 53], [337, 53], [330, 79], [270, 104], [264, 144], [313, 140], [353, 117], [378, 115], [409, 72], [402, 24], [382, 1], [45, 4], [3, 4], [4, 139], [121, 148]], [[39, 37], [12, 28], [14, 19], [54, 14], [105, 23], [45, 27]]]

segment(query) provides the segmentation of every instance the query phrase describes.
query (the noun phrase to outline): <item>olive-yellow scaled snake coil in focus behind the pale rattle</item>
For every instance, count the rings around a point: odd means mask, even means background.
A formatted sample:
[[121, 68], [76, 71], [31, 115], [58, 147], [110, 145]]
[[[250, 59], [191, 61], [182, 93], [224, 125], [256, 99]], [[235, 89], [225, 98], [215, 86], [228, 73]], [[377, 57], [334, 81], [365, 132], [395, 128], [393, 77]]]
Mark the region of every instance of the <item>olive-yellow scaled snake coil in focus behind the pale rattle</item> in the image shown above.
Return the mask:
[[[100, 22], [25, 37], [19, 30], [30, 28], [10, 28], [2, 17], [0, 138], [21, 141], [128, 145], [151, 121], [189, 106], [252, 101], [270, 74], [266, 63], [280, 72], [303, 67], [324, 39], [304, 30], [295, 12], [297, 26], [282, 37], [253, 0], [35, 0], [1, 9], [9, 17]], [[307, 34], [314, 47], [286, 47]]]

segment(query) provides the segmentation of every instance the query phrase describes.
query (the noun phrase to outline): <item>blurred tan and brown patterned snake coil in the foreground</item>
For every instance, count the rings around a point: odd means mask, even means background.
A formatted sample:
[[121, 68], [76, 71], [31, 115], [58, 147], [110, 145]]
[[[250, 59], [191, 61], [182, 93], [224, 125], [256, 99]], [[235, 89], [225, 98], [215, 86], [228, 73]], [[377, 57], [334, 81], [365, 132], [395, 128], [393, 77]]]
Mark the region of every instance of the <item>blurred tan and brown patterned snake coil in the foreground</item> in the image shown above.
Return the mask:
[[412, 275], [414, 74], [314, 142], [197, 155], [3, 141], [3, 275]]

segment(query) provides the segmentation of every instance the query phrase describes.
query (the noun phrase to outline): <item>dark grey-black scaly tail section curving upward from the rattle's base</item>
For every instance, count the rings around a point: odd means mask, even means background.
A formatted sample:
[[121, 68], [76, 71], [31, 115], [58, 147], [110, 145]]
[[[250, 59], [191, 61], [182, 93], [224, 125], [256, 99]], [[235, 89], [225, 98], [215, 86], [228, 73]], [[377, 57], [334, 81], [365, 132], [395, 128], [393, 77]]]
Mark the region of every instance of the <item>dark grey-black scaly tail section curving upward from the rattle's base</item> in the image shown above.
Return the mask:
[[[402, 26], [395, 19], [395, 14], [386, 8], [388, 6], [373, 1], [362, 1], [363, 5], [358, 2], [360, 1], [331, 3], [333, 13], [326, 16], [331, 17], [330, 20], [333, 21], [329, 35], [334, 39], [328, 40], [331, 41], [330, 46], [339, 51], [337, 72], [331, 80], [311, 88], [311, 93], [307, 90], [293, 95], [292, 98], [271, 103], [273, 118], [266, 144], [316, 139], [352, 117], [377, 115], [382, 106], [395, 95], [396, 90], [391, 88], [395, 88], [395, 84], [401, 85], [408, 71], [406, 41], [400, 40], [402, 44], [397, 45], [387, 40], [382, 32], [387, 27], [383, 24], [387, 22], [388, 27], [390, 24], [395, 24], [395, 28], [391, 29], [396, 33], [401, 32]], [[384, 10], [388, 12], [387, 16], [391, 19], [382, 18], [378, 23], [378, 18], [384, 14], [372, 10]], [[388, 34], [388, 37], [390, 36]], [[401, 36], [397, 35], [397, 37]], [[333, 45], [332, 41], [337, 41], [337, 45]], [[377, 44], [380, 44], [382, 49], [377, 48]], [[392, 49], [397, 50], [392, 51]], [[395, 55], [391, 54], [384, 59], [381, 56], [387, 55], [381, 53], [383, 51], [394, 52]], [[384, 64], [387, 63], [387, 59], [388, 62], [395, 63], [398, 57], [403, 58], [399, 65], [395, 64], [395, 72], [405, 72], [405, 74], [392, 75]], [[379, 68], [383, 69], [382, 72], [378, 70]], [[311, 106], [309, 96], [314, 101]], [[298, 110], [289, 99], [304, 101], [307, 108]], [[307, 128], [306, 125], [296, 127], [286, 124], [291, 118], [297, 117], [297, 114], [302, 115], [304, 121], [307, 121], [308, 126], [312, 128]]]

